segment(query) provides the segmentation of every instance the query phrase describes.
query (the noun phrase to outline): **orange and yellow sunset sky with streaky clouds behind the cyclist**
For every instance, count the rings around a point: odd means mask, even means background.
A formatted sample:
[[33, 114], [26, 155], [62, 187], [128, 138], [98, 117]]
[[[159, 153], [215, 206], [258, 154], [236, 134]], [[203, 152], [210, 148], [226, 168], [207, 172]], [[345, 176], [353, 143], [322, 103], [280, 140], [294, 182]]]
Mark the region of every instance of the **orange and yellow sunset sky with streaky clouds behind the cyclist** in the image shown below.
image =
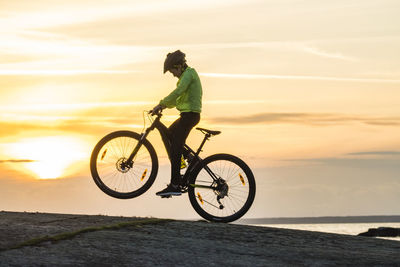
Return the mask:
[[[175, 89], [177, 49], [199, 73], [203, 156], [248, 163], [247, 218], [399, 215], [400, 3], [395, 0], [0, 0], [0, 210], [199, 218], [152, 188], [113, 199], [92, 149]], [[178, 118], [167, 110], [166, 125]], [[148, 125], [148, 124], [147, 124]], [[187, 143], [197, 147], [200, 132]]]

